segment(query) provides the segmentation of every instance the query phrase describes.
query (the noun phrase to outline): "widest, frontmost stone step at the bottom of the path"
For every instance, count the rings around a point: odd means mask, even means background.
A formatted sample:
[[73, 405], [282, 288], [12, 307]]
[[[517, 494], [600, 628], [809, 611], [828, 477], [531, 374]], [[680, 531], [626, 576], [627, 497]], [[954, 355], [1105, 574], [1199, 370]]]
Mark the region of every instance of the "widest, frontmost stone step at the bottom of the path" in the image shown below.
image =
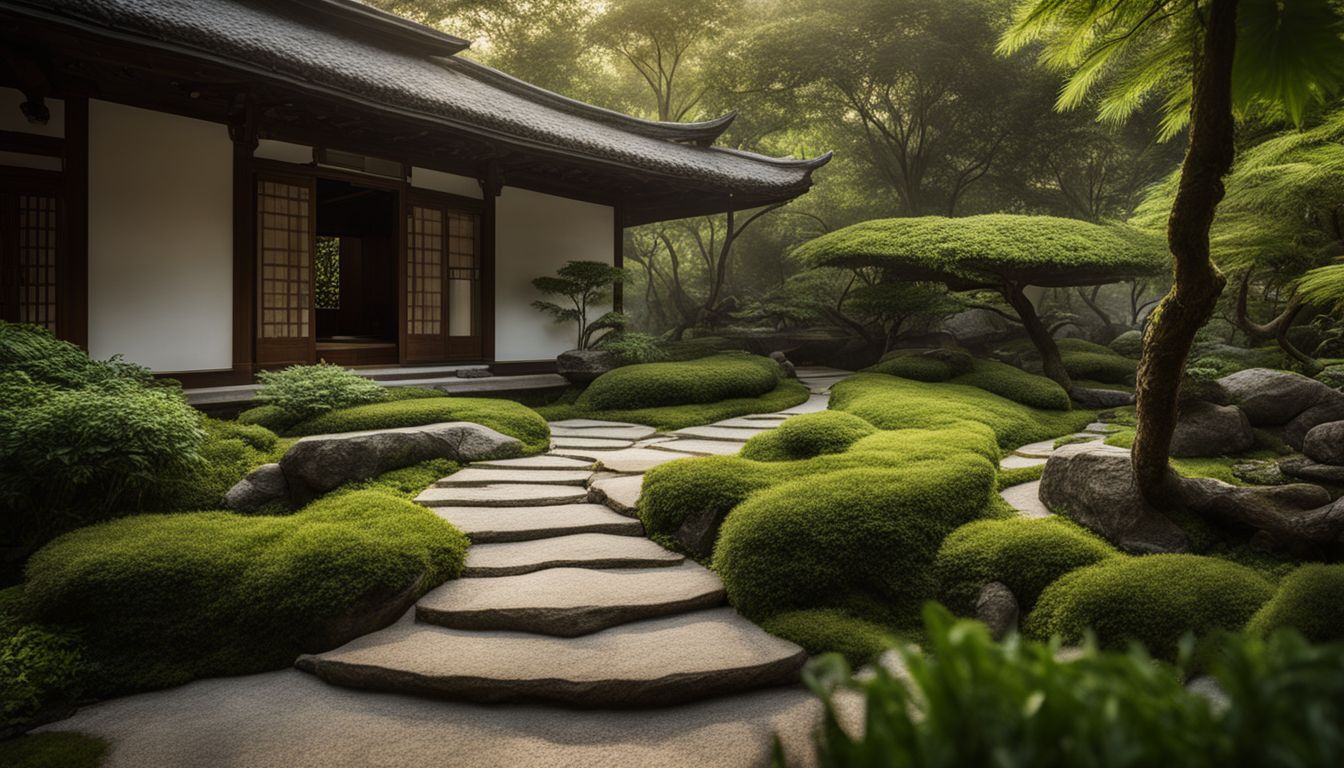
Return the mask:
[[731, 608], [622, 624], [582, 638], [399, 621], [300, 670], [335, 685], [485, 703], [668, 706], [793, 685], [802, 648]]

